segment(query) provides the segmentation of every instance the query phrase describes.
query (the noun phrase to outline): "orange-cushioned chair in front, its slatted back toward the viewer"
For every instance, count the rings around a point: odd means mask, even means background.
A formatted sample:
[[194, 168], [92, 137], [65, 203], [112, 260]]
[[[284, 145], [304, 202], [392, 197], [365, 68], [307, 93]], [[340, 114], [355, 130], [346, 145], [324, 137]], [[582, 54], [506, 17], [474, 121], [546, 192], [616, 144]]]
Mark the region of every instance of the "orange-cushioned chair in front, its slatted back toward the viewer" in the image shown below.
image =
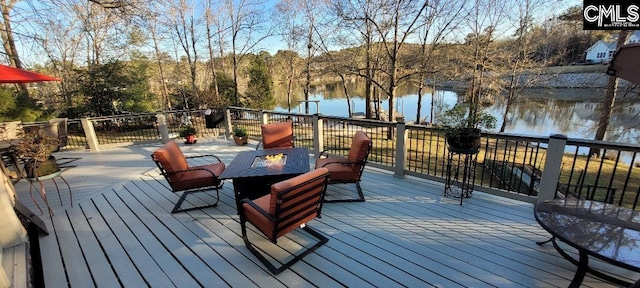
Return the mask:
[[[268, 195], [255, 200], [248, 198], [242, 200], [242, 209], [239, 211], [242, 238], [249, 251], [258, 257], [271, 273], [279, 274], [329, 241], [306, 225], [314, 218], [320, 218], [328, 176], [329, 172], [326, 168], [316, 169], [271, 185], [271, 193]], [[296, 253], [297, 256], [276, 268], [249, 241], [247, 222], [258, 228], [274, 244], [277, 244], [280, 236], [298, 227], [314, 236], [318, 242], [304, 252]]]

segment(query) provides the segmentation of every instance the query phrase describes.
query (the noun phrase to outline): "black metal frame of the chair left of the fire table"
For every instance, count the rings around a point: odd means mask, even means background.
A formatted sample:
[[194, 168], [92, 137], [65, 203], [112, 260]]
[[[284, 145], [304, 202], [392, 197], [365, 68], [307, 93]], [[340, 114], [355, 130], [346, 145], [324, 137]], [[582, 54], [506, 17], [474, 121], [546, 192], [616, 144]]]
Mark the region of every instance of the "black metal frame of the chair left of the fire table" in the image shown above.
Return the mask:
[[[220, 158], [218, 158], [218, 156], [215, 156], [213, 154], [189, 156], [189, 157], [185, 157], [185, 159], [188, 162], [189, 159], [203, 158], [203, 157], [213, 157], [216, 160], [218, 160], [218, 162], [222, 163]], [[196, 170], [204, 170], [204, 171], [209, 172], [212, 175], [212, 177], [217, 178], [218, 176], [216, 176], [211, 170], [195, 166], [195, 167], [189, 167], [188, 169], [185, 169], [185, 170], [179, 170], [179, 171], [175, 171], [175, 172], [169, 173], [162, 167], [162, 163], [160, 163], [160, 161], [157, 160], [156, 157], [153, 154], [151, 154], [151, 159], [153, 159], [153, 162], [155, 162], [156, 165], [158, 166], [158, 169], [160, 169], [160, 174], [162, 176], [164, 176], [164, 178], [169, 183], [169, 186], [171, 186], [171, 191], [174, 192], [174, 193], [182, 192], [182, 195], [180, 196], [180, 199], [178, 199], [178, 202], [176, 203], [176, 205], [171, 210], [171, 213], [185, 212], [185, 211], [191, 211], [191, 210], [196, 210], [196, 209], [202, 209], [202, 208], [209, 208], [209, 207], [218, 206], [218, 202], [220, 202], [220, 189], [224, 185], [224, 181], [219, 180], [220, 181], [219, 185], [205, 186], [205, 187], [186, 189], [186, 190], [176, 190], [176, 189], [173, 188], [173, 183], [171, 181], [171, 177], [169, 177], [170, 175], [177, 174], [177, 173], [184, 173], [184, 172], [196, 171]], [[182, 202], [184, 202], [184, 200], [187, 197], [187, 195], [195, 193], [195, 192], [202, 192], [202, 191], [207, 191], [207, 190], [211, 190], [211, 189], [215, 189], [216, 190], [216, 202], [215, 203], [209, 204], [209, 205], [194, 206], [194, 207], [191, 207], [191, 208], [180, 209], [180, 206], [182, 205]]]

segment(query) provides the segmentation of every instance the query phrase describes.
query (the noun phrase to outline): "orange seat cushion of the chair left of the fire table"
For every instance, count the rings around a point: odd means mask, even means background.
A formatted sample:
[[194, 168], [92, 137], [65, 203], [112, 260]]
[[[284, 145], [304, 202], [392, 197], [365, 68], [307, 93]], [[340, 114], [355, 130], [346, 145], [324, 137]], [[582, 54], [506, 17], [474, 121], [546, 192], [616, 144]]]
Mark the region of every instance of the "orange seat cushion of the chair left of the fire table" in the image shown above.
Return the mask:
[[[211, 173], [202, 170], [201, 168], [213, 172], [215, 176], [212, 176]], [[208, 165], [189, 167], [188, 172], [176, 173], [175, 175], [172, 175], [172, 177], [175, 177], [176, 181], [173, 181], [172, 178], [171, 187], [173, 188], [173, 191], [182, 191], [207, 186], [218, 186], [220, 185], [218, 176], [222, 174], [224, 168], [224, 163], [213, 163]]]

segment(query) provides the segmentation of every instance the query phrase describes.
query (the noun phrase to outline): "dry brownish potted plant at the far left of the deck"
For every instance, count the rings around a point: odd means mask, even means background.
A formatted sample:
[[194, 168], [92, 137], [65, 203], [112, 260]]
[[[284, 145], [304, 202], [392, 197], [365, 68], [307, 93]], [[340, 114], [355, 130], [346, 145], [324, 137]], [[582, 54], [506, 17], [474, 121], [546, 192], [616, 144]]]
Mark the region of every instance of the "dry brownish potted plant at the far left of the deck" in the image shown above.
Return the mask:
[[16, 155], [24, 161], [27, 178], [37, 178], [60, 171], [56, 158], [51, 155], [59, 148], [58, 137], [39, 133], [38, 129], [25, 130], [13, 144]]

